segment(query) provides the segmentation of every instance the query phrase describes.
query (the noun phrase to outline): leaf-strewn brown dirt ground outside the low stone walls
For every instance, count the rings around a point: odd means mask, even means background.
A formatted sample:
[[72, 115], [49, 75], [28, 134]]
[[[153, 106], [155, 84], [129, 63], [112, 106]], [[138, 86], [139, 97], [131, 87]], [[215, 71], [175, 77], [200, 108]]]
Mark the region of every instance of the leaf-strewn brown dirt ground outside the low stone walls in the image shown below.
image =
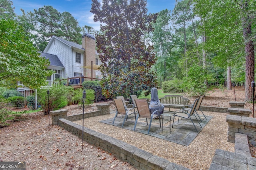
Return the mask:
[[[236, 101], [244, 101], [242, 87], [235, 87], [235, 95]], [[192, 97], [190, 101], [194, 99]], [[229, 107], [229, 101], [235, 101], [234, 90], [223, 92], [214, 89], [204, 97], [202, 105]], [[114, 110], [114, 103], [108, 103], [111, 104], [110, 110]], [[246, 103], [245, 108], [252, 110], [252, 103]], [[68, 115], [82, 113], [80, 105], [63, 109], [69, 110]], [[85, 112], [92, 110], [92, 107], [84, 109]], [[51, 121], [48, 118], [42, 112], [31, 113], [24, 121], [0, 128], [0, 161], [25, 161], [26, 168], [34, 170], [134, 170], [127, 162], [94, 145], [85, 142], [82, 150], [82, 139], [61, 127], [49, 125]], [[251, 146], [250, 149], [255, 157], [255, 147]]]

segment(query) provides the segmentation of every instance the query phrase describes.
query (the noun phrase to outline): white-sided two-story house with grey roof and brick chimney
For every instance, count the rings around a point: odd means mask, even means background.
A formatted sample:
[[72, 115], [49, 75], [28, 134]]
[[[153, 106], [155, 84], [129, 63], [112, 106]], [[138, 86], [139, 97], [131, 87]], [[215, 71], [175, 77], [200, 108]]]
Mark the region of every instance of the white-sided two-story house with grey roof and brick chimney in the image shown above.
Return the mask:
[[[52, 69], [54, 74], [47, 77], [47, 85], [51, 86], [56, 79], [66, 79], [71, 77], [91, 77], [101, 79], [100, 71], [95, 70], [101, 61], [96, 52], [95, 37], [85, 33], [82, 35], [82, 45], [52, 36], [43, 52], [42, 57], [49, 59], [48, 69]], [[91, 69], [93, 65], [94, 69]], [[32, 93], [26, 87], [18, 88], [18, 91], [25, 96]]]

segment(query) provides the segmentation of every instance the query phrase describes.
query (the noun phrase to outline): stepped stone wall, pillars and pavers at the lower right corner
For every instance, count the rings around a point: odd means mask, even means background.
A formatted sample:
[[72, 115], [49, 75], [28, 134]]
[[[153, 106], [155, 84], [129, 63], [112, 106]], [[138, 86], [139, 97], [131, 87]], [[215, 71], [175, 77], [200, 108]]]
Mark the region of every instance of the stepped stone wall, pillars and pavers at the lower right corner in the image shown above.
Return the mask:
[[256, 158], [250, 153], [249, 143], [255, 144], [256, 118], [244, 109], [244, 102], [230, 102], [226, 122], [228, 122], [228, 141], [235, 143], [235, 152], [217, 149], [212, 158], [210, 170], [256, 170]]

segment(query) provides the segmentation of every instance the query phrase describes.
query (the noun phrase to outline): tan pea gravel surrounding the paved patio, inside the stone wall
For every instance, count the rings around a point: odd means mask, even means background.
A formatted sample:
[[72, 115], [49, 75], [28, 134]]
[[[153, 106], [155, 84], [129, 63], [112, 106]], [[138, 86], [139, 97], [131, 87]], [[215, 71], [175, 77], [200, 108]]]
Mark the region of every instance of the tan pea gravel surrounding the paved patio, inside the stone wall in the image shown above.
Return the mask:
[[[204, 114], [213, 118], [189, 146], [98, 122], [113, 118], [114, 114], [88, 118], [85, 127], [127, 142], [186, 168], [206, 170], [210, 167], [216, 149], [234, 152], [234, 143], [227, 142], [226, 113], [204, 112]], [[82, 125], [82, 120], [75, 123]]]

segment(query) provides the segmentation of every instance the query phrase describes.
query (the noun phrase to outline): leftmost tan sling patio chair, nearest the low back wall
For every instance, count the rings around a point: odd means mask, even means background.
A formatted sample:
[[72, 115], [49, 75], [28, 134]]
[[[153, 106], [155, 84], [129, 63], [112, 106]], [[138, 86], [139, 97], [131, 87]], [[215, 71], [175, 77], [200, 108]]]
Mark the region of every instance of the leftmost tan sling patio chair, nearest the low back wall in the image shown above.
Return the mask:
[[[134, 108], [129, 108], [128, 110], [126, 110], [125, 107], [124, 107], [124, 103], [123, 103], [122, 99], [113, 99], [113, 100], [114, 100], [115, 105], [116, 105], [116, 115], [114, 117], [114, 121], [116, 120], [116, 117], [117, 117], [118, 114], [125, 115], [124, 121], [127, 120], [128, 115], [131, 115], [131, 114], [134, 114], [134, 117], [136, 119]], [[132, 111], [132, 109], [134, 111]], [[114, 121], [113, 121], [112, 125], [114, 125]], [[124, 126], [124, 121], [123, 121], [122, 127]]]

